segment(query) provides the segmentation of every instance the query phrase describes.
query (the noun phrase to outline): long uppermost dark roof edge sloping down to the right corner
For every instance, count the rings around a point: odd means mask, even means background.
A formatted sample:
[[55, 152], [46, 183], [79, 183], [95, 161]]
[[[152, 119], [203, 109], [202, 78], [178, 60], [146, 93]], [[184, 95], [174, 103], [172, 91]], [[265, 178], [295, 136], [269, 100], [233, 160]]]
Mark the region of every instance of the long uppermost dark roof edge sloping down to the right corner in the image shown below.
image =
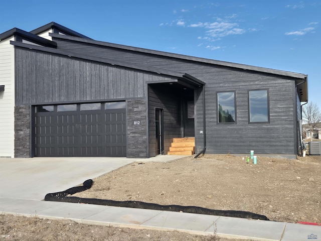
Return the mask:
[[191, 61], [202, 62], [202, 63], [207, 63], [207, 64], [215, 64], [215, 65], [221, 65], [221, 66], [226, 66], [226, 67], [239, 68], [239, 69], [244, 69], [244, 70], [252, 70], [252, 71], [258, 71], [258, 72], [263, 72], [263, 73], [288, 76], [288, 77], [293, 77], [293, 78], [298, 78], [298, 79], [303, 79], [305, 77], [304, 74], [300, 74], [300, 73], [275, 70], [275, 69], [268, 69], [268, 68], [263, 68], [263, 67], [256, 67], [256, 66], [245, 65], [245, 64], [237, 64], [237, 63], [231, 63], [231, 62], [219, 61], [219, 60], [213, 60], [213, 59], [206, 59], [206, 58], [200, 58], [200, 57], [193, 57], [193, 56], [188, 56], [188, 55], [183, 55], [183, 54], [174, 54], [174, 53], [169, 53], [169, 52], [150, 50], [150, 49], [144, 49], [144, 48], [138, 48], [138, 47], [131, 47], [131, 46], [120, 45], [120, 44], [112, 44], [112, 43], [96, 41], [96, 40], [80, 39], [80, 38], [75, 38], [72, 36], [64, 36], [64, 35], [58, 35], [58, 34], [50, 34], [50, 36], [54, 37], [54, 38], [67, 39], [67, 40], [72, 40], [72, 41], [101, 45], [101, 46], [105, 46], [105, 47], [118, 48], [118, 49], [136, 51], [136, 52], [147, 53], [147, 54], [155, 54], [155, 55], [160, 55], [160, 56], [165, 56], [165, 57], [191, 60]]

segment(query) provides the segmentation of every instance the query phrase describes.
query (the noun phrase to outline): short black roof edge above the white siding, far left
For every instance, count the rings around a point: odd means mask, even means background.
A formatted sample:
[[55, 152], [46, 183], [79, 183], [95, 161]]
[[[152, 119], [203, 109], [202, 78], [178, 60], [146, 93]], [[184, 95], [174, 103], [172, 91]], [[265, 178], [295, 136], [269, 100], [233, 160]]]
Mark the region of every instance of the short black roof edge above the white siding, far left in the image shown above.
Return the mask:
[[24, 30], [17, 29], [17, 28], [13, 28], [11, 30], [8, 30], [5, 33], [0, 34], [0, 41], [7, 39], [11, 36], [17, 36], [17, 35], [21, 36], [23, 39], [30, 40], [30, 41], [35, 42], [40, 45], [45, 45], [45, 46], [48, 46], [51, 48], [57, 48], [56, 42], [50, 41], [48, 39], [39, 37], [37, 35], [31, 34], [29, 32], [26, 32]]

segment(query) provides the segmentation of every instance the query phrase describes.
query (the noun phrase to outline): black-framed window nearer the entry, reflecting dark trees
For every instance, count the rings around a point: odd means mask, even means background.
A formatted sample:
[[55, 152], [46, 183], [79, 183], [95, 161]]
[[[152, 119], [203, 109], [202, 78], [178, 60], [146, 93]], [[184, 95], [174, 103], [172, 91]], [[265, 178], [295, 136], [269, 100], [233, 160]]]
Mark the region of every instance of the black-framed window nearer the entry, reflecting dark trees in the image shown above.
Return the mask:
[[235, 92], [217, 93], [218, 123], [236, 123]]

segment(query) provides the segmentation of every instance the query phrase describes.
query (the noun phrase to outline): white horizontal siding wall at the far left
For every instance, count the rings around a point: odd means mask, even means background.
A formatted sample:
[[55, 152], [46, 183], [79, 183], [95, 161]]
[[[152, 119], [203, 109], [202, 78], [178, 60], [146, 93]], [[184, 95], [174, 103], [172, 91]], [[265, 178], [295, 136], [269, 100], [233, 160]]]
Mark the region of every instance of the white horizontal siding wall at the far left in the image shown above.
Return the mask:
[[14, 37], [0, 41], [0, 157], [14, 157], [15, 149], [15, 52]]

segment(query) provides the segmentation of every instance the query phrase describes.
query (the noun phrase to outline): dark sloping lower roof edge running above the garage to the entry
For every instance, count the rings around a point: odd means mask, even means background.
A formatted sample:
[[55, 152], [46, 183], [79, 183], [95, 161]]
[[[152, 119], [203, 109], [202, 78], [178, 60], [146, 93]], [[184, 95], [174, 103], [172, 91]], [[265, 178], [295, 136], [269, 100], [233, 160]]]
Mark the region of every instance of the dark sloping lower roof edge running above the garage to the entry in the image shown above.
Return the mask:
[[106, 59], [106, 58], [92, 57], [92, 56], [76, 54], [76, 53], [68, 53], [65, 51], [58, 50], [58, 49], [46, 48], [46, 47], [42, 47], [42, 46], [36, 46], [36, 45], [31, 45], [31, 44], [26, 44], [26, 43], [21, 43], [21, 42], [11, 41], [10, 43], [14, 46], [18, 46], [18, 47], [22, 47], [22, 48], [35, 49], [35, 50], [39, 50], [39, 51], [44, 51], [44, 52], [48, 52], [48, 53], [53, 53], [53, 54], [58, 54], [58, 55], [63, 55], [63, 56], [68, 56], [68, 57], [73, 57], [73, 58], [78, 58], [78, 59], [90, 60], [90, 61], [95, 61], [95, 62], [104, 63], [104, 64], [111, 64], [111, 65], [115, 65], [115, 66], [120, 66], [120, 67], [125, 67], [125, 68], [130, 68], [130, 69], [137, 69], [137, 70], [141, 70], [141, 71], [181, 78], [181, 79], [187, 80], [193, 86], [205, 85], [205, 83], [203, 81], [201, 81], [201, 80], [199, 80], [189, 74], [186, 74], [186, 73], [165, 70], [165, 69], [159, 69], [159, 68], [153, 68], [153, 67], [146, 67], [146, 66], [141, 66], [141, 65], [137, 65], [137, 64], [131, 64], [131, 63], [127, 63], [127, 62], [111, 60], [111, 59]]

